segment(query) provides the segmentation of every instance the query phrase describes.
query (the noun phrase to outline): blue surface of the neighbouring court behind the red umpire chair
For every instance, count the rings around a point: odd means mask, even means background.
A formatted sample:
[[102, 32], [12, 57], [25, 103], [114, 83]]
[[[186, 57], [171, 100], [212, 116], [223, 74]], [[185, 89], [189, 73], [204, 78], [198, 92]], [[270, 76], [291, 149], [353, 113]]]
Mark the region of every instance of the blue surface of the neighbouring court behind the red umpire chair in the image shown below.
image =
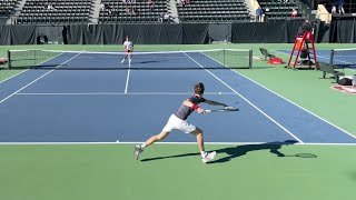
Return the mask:
[[[284, 54], [290, 54], [290, 50], [277, 50], [277, 52]], [[348, 68], [350, 70], [356, 70], [356, 49], [339, 50], [335, 51], [332, 56], [332, 50], [317, 50], [316, 58], [318, 62], [330, 63], [333, 59], [333, 64], [338, 68]], [[294, 52], [297, 56], [297, 50]], [[333, 57], [333, 58], [332, 58]]]

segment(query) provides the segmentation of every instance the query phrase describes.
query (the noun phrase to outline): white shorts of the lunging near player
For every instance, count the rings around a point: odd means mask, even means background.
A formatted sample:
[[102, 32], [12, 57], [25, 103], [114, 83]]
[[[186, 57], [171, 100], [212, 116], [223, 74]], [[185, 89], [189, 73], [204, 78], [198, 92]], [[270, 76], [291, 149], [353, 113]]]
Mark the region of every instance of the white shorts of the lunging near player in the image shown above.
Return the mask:
[[176, 114], [171, 114], [162, 131], [170, 132], [172, 130], [181, 130], [186, 133], [190, 133], [196, 129], [196, 126], [189, 123], [186, 120], [179, 119]]

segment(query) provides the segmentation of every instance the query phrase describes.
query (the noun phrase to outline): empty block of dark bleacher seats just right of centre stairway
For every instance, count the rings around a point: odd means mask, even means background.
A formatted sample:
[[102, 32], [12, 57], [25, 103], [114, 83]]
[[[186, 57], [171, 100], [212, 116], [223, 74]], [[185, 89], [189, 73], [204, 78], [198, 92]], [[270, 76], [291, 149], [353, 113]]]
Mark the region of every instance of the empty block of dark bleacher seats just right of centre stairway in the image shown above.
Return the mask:
[[250, 21], [245, 0], [191, 0], [177, 2], [180, 22], [235, 22]]

